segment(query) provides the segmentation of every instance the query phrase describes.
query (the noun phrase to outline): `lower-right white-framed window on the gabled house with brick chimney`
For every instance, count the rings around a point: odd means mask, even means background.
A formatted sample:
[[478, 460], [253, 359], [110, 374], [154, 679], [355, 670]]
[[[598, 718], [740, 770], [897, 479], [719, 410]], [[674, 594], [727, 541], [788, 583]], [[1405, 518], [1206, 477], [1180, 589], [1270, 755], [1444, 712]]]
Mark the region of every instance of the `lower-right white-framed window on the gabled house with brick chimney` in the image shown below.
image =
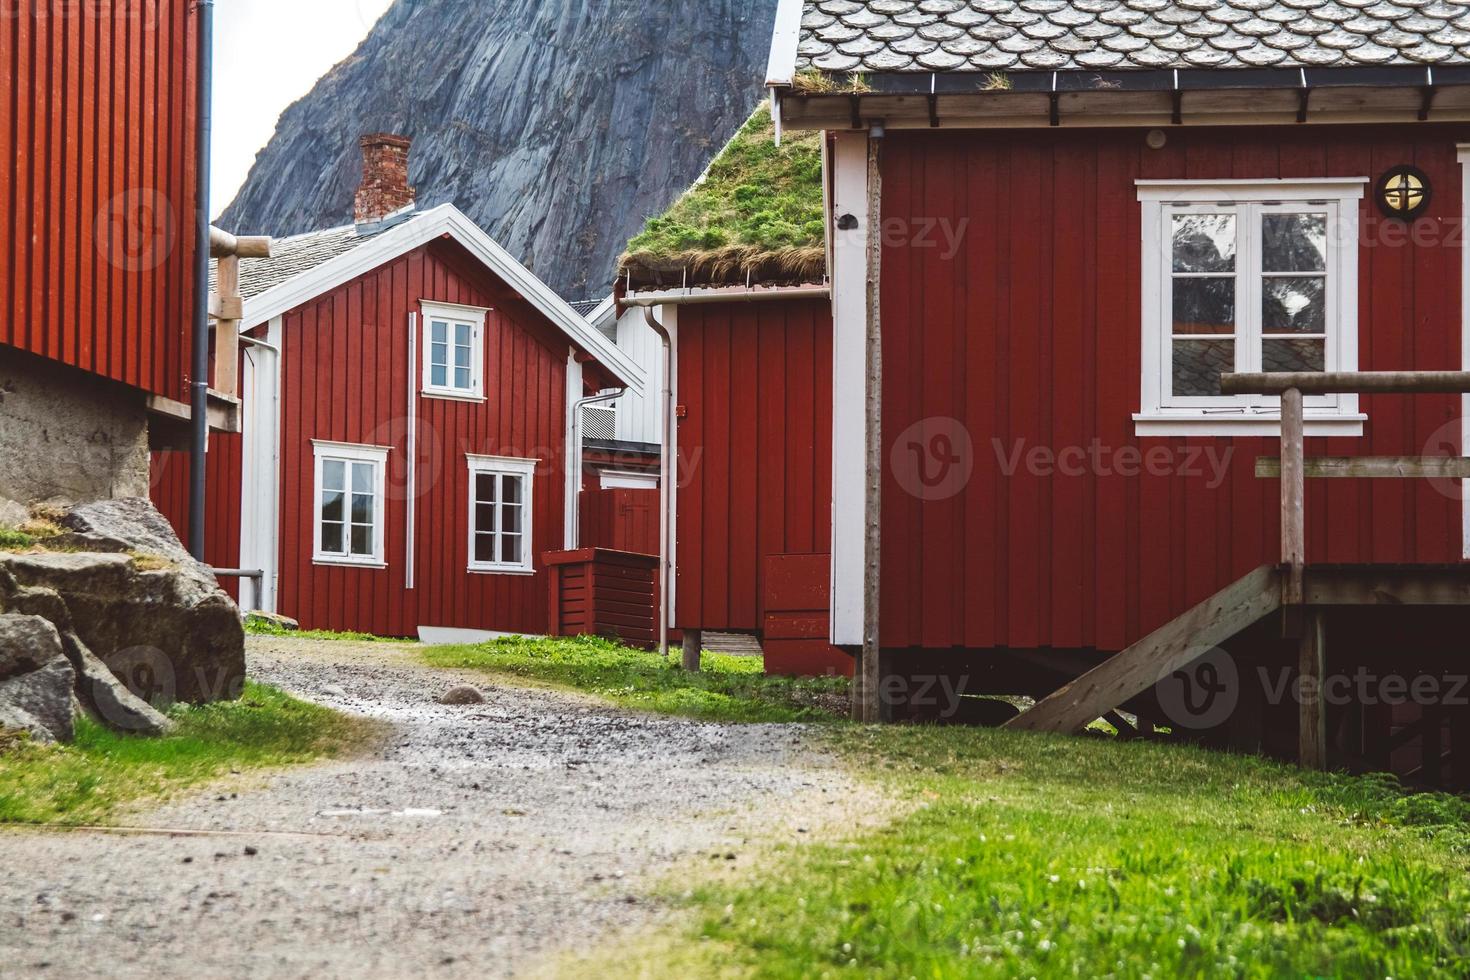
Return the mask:
[[531, 573], [531, 501], [537, 460], [469, 460], [469, 570]]

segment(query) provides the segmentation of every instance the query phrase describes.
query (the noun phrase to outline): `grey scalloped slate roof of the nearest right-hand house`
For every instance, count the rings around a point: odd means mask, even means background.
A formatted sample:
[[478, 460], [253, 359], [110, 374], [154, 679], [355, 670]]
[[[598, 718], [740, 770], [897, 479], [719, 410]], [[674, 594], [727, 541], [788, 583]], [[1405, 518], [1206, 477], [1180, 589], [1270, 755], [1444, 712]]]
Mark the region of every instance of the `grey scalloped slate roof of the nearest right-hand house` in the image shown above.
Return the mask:
[[1470, 63], [1470, 0], [806, 0], [828, 72]]

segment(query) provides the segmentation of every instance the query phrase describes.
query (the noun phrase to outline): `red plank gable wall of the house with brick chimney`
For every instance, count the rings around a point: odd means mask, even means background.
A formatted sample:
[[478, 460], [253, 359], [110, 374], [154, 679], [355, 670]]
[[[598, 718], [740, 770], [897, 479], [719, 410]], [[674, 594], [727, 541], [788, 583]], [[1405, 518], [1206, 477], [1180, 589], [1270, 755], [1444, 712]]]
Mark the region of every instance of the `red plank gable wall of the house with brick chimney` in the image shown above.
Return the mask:
[[[406, 589], [409, 313], [420, 300], [494, 310], [485, 323], [487, 401], [417, 398], [416, 580]], [[547, 632], [539, 555], [562, 545], [567, 341], [450, 242], [379, 266], [290, 311], [282, 326], [279, 611], [309, 629], [385, 636], [417, 626]], [[313, 564], [312, 439], [391, 447], [387, 569]], [[539, 460], [537, 574], [466, 570], [466, 453]]]

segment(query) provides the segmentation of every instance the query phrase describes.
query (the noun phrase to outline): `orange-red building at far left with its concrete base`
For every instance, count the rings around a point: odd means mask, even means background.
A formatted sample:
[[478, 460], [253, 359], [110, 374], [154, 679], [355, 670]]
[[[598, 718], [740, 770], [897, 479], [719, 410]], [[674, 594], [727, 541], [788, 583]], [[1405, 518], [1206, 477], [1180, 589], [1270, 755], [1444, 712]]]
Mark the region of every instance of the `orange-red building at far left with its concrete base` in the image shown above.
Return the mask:
[[0, 19], [0, 502], [146, 495], [150, 439], [187, 436], [198, 19], [185, 0]]

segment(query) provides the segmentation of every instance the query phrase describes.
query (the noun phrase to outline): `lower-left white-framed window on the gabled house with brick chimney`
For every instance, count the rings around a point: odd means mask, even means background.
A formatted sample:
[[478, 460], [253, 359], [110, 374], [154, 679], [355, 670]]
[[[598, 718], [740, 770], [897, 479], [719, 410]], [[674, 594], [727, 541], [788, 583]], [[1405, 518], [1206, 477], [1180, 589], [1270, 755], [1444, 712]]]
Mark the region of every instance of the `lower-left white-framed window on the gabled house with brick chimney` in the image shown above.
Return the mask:
[[312, 445], [316, 454], [313, 560], [382, 567], [388, 448], [320, 439]]

